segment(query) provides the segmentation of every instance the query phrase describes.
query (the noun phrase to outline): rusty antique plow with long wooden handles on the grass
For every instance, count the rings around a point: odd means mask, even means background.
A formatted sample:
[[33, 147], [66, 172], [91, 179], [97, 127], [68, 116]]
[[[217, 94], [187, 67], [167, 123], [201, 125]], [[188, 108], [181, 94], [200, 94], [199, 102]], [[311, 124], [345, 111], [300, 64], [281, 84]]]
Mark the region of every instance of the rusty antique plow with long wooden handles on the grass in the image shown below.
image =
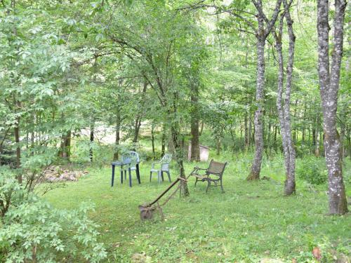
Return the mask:
[[[192, 175], [192, 173], [190, 173]], [[166, 190], [164, 190], [159, 196], [157, 196], [154, 201], [151, 203], [147, 203], [145, 205], [139, 205], [139, 210], [140, 210], [140, 219], [141, 220], [151, 220], [153, 217], [153, 213], [155, 211], [159, 211], [161, 215], [161, 220], [164, 220], [164, 213], [162, 211], [162, 206], [166, 205], [166, 203], [171, 200], [171, 198], [176, 194], [176, 192], [180, 189], [181, 187], [181, 181], [187, 182], [187, 179], [190, 177], [190, 175], [187, 178], [183, 177], [178, 177], [176, 181], [172, 182]], [[179, 184], [178, 184], [179, 182]], [[159, 203], [159, 200], [169, 191], [171, 190], [176, 184], [178, 184], [178, 187], [173, 191], [173, 193], [166, 198], [166, 201], [164, 203]]]

